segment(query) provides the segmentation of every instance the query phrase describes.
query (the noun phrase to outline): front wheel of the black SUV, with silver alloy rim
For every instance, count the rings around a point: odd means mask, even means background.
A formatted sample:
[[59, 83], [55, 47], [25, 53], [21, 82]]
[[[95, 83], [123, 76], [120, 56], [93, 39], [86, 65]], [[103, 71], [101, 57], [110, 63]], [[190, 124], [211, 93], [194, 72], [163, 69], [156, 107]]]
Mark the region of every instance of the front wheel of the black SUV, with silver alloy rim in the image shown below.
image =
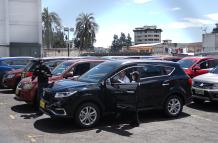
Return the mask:
[[80, 128], [94, 127], [100, 119], [100, 109], [94, 103], [83, 103], [77, 108], [74, 119]]

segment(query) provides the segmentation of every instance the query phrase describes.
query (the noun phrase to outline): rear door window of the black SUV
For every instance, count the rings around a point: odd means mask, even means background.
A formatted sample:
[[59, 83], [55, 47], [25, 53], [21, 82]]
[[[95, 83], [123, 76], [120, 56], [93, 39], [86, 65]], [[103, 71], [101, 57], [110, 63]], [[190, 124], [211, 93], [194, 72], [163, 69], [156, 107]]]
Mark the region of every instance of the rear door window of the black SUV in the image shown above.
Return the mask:
[[146, 65], [141, 71], [141, 78], [161, 76], [164, 75], [164, 71], [161, 66]]

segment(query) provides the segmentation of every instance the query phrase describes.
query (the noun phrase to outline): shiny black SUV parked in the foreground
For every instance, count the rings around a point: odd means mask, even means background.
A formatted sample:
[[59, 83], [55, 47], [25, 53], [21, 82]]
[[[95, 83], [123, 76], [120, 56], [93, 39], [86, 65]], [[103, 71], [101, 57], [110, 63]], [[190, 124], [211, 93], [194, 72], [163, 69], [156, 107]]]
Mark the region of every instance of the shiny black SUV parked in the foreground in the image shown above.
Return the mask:
[[[118, 80], [125, 71], [129, 82]], [[139, 82], [131, 82], [138, 71]], [[191, 99], [191, 80], [177, 63], [145, 60], [104, 62], [78, 81], [57, 81], [44, 89], [40, 109], [51, 117], [74, 118], [80, 127], [97, 124], [104, 113], [128, 109], [163, 109], [169, 117], [177, 117]]]

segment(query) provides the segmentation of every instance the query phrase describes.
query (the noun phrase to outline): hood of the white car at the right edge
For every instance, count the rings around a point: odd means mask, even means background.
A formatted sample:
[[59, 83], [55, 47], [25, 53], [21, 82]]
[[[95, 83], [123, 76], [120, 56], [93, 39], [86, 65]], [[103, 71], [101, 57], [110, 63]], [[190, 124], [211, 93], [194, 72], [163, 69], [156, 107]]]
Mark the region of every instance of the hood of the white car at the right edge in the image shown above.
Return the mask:
[[197, 76], [193, 79], [194, 81], [204, 81], [207, 83], [218, 83], [218, 74], [206, 73], [200, 76]]

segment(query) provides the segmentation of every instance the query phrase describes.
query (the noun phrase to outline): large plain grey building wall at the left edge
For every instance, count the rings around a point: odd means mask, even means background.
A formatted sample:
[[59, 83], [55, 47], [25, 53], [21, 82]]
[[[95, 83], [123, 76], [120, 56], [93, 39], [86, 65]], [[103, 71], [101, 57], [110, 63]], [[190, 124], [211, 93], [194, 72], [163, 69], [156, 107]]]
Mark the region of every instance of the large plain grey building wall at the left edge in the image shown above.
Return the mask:
[[41, 0], [0, 1], [0, 56], [41, 55]]

